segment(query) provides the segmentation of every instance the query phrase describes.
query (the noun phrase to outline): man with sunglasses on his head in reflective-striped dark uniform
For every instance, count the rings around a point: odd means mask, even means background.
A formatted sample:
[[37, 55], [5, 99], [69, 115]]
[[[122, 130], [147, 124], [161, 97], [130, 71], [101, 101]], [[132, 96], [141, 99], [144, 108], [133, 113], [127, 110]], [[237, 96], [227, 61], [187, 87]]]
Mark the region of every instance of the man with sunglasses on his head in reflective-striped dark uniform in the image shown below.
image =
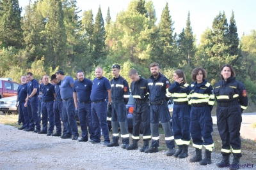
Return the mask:
[[118, 64], [112, 66], [112, 73], [115, 76], [111, 81], [111, 99], [112, 99], [112, 113], [111, 125], [113, 131], [113, 141], [109, 143], [108, 147], [119, 146], [118, 139], [118, 122], [121, 129], [122, 148], [129, 146], [129, 132], [127, 125], [127, 110], [125, 104], [128, 103], [130, 92], [127, 81], [120, 76], [121, 67]]

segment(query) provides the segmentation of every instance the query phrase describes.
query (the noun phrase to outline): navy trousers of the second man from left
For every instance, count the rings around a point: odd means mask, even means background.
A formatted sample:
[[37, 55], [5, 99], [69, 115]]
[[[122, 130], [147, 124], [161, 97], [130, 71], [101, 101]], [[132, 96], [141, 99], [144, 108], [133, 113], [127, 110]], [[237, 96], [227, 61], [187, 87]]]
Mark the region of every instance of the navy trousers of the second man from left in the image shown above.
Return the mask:
[[36, 129], [38, 131], [41, 130], [40, 118], [38, 117], [38, 97], [33, 96], [28, 100], [28, 117], [29, 121], [29, 129]]

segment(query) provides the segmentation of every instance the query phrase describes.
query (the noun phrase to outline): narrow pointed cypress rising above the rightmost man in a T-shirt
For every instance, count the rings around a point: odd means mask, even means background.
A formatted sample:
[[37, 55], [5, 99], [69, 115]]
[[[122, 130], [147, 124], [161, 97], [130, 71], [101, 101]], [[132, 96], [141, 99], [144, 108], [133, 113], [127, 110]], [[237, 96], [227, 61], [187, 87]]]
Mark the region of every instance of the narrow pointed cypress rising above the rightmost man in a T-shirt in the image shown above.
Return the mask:
[[95, 24], [93, 25], [93, 46], [92, 57], [95, 63], [99, 64], [99, 62], [102, 62], [102, 59], [106, 57], [105, 27], [100, 7], [95, 18]]

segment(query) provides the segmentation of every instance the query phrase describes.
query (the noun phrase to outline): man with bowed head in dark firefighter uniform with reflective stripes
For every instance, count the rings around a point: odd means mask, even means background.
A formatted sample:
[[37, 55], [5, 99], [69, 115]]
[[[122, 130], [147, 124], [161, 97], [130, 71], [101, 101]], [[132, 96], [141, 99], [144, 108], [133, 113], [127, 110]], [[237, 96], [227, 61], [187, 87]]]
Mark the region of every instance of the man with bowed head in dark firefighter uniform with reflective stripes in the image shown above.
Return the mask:
[[138, 75], [136, 69], [130, 70], [129, 77], [132, 80], [131, 94], [135, 99], [135, 107], [132, 115], [132, 144], [126, 149], [138, 149], [138, 141], [140, 140], [140, 127], [142, 127], [144, 144], [140, 149], [140, 152], [145, 152], [145, 150], [148, 149], [149, 141], [151, 139], [150, 110], [147, 85], [148, 80], [141, 78], [141, 76]]

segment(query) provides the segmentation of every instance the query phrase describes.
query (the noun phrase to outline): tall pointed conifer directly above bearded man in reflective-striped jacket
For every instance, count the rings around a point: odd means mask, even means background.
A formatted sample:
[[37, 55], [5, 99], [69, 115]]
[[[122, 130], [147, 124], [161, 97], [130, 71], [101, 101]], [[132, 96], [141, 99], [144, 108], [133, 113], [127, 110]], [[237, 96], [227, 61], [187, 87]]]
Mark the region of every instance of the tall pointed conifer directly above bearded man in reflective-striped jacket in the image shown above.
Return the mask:
[[168, 3], [163, 10], [161, 15], [161, 21], [159, 23], [159, 38], [160, 38], [160, 49], [161, 56], [157, 59], [161, 65], [175, 67], [177, 61], [175, 60], [175, 45], [173, 43], [173, 22], [170, 16]]

